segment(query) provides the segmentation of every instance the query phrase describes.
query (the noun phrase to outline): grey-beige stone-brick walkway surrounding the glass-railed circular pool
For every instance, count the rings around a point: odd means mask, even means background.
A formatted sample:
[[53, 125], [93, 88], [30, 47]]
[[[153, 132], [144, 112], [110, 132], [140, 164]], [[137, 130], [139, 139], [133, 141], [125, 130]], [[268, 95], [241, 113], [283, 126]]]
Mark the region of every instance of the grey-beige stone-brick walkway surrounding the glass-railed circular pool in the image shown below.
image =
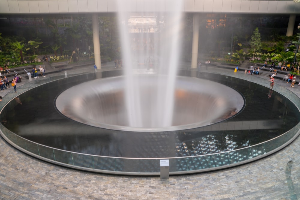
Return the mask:
[[[87, 67], [93, 70], [92, 66]], [[103, 66], [103, 70], [107, 69]], [[214, 70], [208, 67], [208, 71]], [[280, 80], [275, 82], [290, 85]], [[26, 80], [21, 84], [24, 83]], [[300, 95], [299, 87], [289, 89]], [[0, 138], [0, 199], [297, 199], [299, 146], [300, 138], [253, 163], [216, 172], [170, 176], [162, 181], [160, 177], [113, 176], [66, 169], [30, 157]]]

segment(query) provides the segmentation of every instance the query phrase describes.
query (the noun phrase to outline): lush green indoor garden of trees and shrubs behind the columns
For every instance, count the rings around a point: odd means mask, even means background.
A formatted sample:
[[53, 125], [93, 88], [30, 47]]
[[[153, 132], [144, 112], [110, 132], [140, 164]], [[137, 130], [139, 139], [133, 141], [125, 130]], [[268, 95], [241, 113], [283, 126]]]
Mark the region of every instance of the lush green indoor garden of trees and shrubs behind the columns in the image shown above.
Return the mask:
[[[22, 18], [14, 19], [21, 20]], [[50, 62], [68, 61], [69, 63], [93, 60], [93, 37], [91, 19], [88, 17], [53, 17], [28, 18], [14, 27], [18, 34], [0, 33], [0, 65], [9, 68], [41, 64], [45, 55]], [[119, 42], [117, 17], [99, 17], [99, 37], [101, 60], [120, 59], [122, 48]], [[260, 21], [258, 21], [260, 20]], [[266, 19], [267, 21], [268, 19]], [[163, 21], [162, 18], [157, 21]], [[245, 60], [253, 63], [279, 62], [290, 63], [298, 68], [299, 53], [295, 59], [295, 50], [299, 45], [299, 34], [287, 37], [286, 28], [254, 27], [262, 24], [261, 18], [236, 18], [231, 26], [223, 21], [218, 24], [209, 19], [203, 20], [199, 40], [199, 58], [213, 62], [241, 64]], [[14, 22], [11, 20], [11, 22]], [[182, 59], [190, 61], [192, 43], [192, 15], [185, 17], [182, 40]], [[17, 22], [16, 22], [17, 23]], [[223, 24], [222, 24], [223, 23]], [[270, 22], [268, 22], [270, 23]], [[241, 26], [241, 25], [244, 25]], [[235, 28], [239, 26], [239, 28]], [[248, 27], [247, 27], [248, 26]], [[247, 27], [247, 29], [246, 29]], [[164, 26], [158, 26], [160, 28]], [[13, 29], [13, 28], [10, 28]], [[281, 30], [281, 31], [280, 31]], [[260, 32], [263, 31], [261, 35]], [[298, 32], [298, 30], [295, 30]], [[16, 31], [15, 31], [16, 32]], [[266, 34], [271, 33], [271, 34]], [[136, 37], [133, 33], [132, 39]], [[148, 34], [145, 41], [155, 38]], [[145, 41], [140, 41], [145, 43]], [[159, 46], [159, 41], [154, 44]], [[295, 61], [295, 64], [294, 64]], [[298, 73], [298, 70], [297, 70]]]

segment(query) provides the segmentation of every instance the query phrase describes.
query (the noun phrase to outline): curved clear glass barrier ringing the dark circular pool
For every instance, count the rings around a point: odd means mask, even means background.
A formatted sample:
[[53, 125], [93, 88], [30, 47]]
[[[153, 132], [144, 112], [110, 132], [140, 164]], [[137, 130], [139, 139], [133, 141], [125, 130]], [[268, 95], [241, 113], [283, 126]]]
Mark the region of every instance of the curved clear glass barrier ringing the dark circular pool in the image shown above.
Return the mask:
[[[226, 72], [226, 70], [222, 72], [216, 72], [224, 76], [224, 80], [228, 79], [230, 81], [232, 72]], [[22, 85], [18, 87], [19, 92], [27, 91], [31, 88], [35, 88], [43, 83], [47, 83], [50, 81], [55, 81], [53, 84], [60, 85], [66, 82], [73, 82], [78, 80], [79, 74], [86, 74], [85, 77], [95, 78], [98, 76], [96, 73], [86, 73], [84, 70], [76, 70], [72, 71], [72, 75], [68, 74], [68, 78], [65, 76], [48, 76], [47, 79], [43, 79], [40, 82], [29, 82], [28, 84]], [[120, 75], [122, 71], [120, 71]], [[189, 70], [181, 70], [181, 75], [190, 75]], [[111, 76], [110, 72], [101, 72], [102, 77]], [[234, 75], [235, 76], [235, 75]], [[253, 78], [251, 76], [243, 76], [243, 74], [236, 75], [240, 79], [240, 81], [250, 81], [256, 82], [259, 85], [264, 85], [269, 87], [269, 82], [263, 79]], [[84, 78], [85, 79], [85, 78]], [[46, 89], [46, 85], [44, 86]], [[281, 87], [275, 83], [274, 88], [275, 91], [284, 94], [284, 96], [288, 97], [292, 100], [295, 105], [299, 108], [300, 99], [294, 93], [287, 90], [286, 88]], [[1, 105], [5, 105], [9, 100], [16, 97], [14, 93], [8, 93]], [[248, 124], [249, 125], [249, 124]], [[234, 126], [234, 125], [233, 125]], [[95, 171], [95, 172], [103, 172], [103, 173], [113, 173], [113, 174], [132, 174], [132, 175], [158, 175], [160, 173], [160, 159], [158, 158], [119, 158], [119, 157], [104, 157], [104, 156], [95, 156], [88, 154], [81, 154], [76, 152], [63, 151], [60, 149], [55, 149], [51, 147], [47, 147], [44, 145], [37, 144], [35, 142], [24, 139], [2, 124], [0, 124], [1, 135], [4, 137], [7, 142], [15, 146], [16, 148], [24, 151], [30, 155], [34, 155], [37, 158], [42, 160], [49, 161], [51, 163], [55, 163], [62, 166], [72, 167], [76, 169], [83, 169], [87, 171]], [[270, 154], [273, 151], [277, 151], [280, 148], [283, 148], [293, 139], [295, 139], [299, 134], [300, 124], [298, 123], [295, 127], [293, 127], [288, 132], [277, 136], [271, 140], [266, 142], [241, 148], [235, 149], [233, 151], [220, 152], [215, 154], [206, 154], [201, 156], [192, 156], [192, 157], [172, 157], [169, 159], [170, 163], [170, 174], [178, 174], [178, 173], [195, 173], [208, 171], [209, 169], [214, 170], [214, 168], [228, 168], [230, 165], [236, 165], [240, 162], [245, 161], [253, 161], [261, 158], [266, 154]], [[139, 166], [146, 166], [143, 169], [140, 169]]]

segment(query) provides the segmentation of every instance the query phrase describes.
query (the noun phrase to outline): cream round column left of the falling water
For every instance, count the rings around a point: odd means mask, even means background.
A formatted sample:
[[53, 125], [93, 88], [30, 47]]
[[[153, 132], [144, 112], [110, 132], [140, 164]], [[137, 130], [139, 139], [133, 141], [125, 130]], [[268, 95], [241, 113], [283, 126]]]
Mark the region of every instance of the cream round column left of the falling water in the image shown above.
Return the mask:
[[97, 69], [101, 69], [101, 57], [100, 57], [100, 41], [99, 41], [99, 23], [98, 23], [98, 14], [92, 15], [92, 24], [93, 24], [93, 41], [94, 41], [94, 56], [95, 56], [95, 65]]

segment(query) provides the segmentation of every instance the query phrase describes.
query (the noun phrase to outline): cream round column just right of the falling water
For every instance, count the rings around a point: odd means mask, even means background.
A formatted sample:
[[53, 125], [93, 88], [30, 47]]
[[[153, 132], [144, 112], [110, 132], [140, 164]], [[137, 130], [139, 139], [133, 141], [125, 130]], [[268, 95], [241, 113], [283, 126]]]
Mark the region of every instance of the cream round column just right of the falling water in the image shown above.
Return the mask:
[[197, 68], [198, 43], [199, 43], [199, 14], [194, 14], [193, 19], [193, 45], [192, 45], [192, 64], [191, 68]]

